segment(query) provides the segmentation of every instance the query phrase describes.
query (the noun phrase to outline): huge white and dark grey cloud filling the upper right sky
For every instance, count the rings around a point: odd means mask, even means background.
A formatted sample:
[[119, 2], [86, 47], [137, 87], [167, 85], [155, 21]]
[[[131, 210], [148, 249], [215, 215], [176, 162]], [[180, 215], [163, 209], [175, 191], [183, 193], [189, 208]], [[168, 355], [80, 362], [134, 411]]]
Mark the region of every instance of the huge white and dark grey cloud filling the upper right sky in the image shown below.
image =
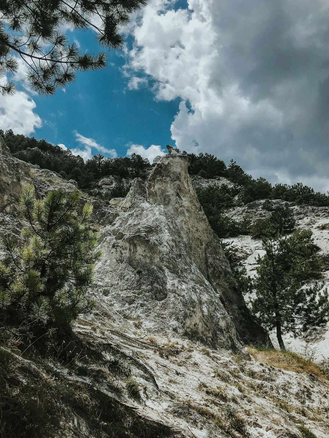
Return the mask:
[[[329, 4], [323, 0], [150, 0], [129, 27], [131, 89], [181, 99], [176, 146], [325, 190], [329, 160]], [[317, 176], [317, 177], [316, 177]]]

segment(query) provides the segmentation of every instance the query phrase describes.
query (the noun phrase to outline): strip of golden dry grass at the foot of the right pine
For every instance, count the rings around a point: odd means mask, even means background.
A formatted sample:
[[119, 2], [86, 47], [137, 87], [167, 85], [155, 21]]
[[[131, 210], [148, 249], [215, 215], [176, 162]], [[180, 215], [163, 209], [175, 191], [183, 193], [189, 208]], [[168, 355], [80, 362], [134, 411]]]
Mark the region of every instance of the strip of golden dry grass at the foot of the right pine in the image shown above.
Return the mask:
[[294, 371], [295, 373], [315, 374], [319, 378], [329, 380], [321, 369], [311, 360], [304, 359], [297, 353], [291, 351], [279, 350], [257, 350], [257, 348], [249, 346], [248, 352], [258, 361], [263, 364], [271, 365], [272, 367], [280, 368], [286, 371]]

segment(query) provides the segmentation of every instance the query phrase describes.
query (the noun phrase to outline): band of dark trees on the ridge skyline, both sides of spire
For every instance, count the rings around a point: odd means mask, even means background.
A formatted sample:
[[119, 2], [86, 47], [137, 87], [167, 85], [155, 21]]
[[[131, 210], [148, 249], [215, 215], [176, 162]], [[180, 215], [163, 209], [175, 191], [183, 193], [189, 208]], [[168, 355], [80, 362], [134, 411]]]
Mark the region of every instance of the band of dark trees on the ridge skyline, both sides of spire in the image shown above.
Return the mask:
[[[130, 158], [104, 158], [103, 155], [98, 154], [84, 162], [79, 155], [75, 156], [70, 150], [54, 146], [46, 140], [38, 141], [33, 137], [14, 134], [11, 130], [6, 132], [0, 130], [0, 135], [16, 158], [57, 172], [64, 179], [73, 179], [77, 181], [79, 188], [84, 190], [92, 189], [95, 182], [106, 176], [117, 177], [118, 182], [121, 182], [122, 178], [144, 179], [152, 168], [147, 159], [136, 154], [132, 154]], [[226, 166], [225, 162], [208, 153], [201, 152], [189, 156], [191, 157], [190, 175], [199, 175], [208, 179], [225, 177], [232, 183], [230, 197], [233, 205], [243, 205], [257, 199], [282, 199], [298, 205], [329, 206], [328, 194], [315, 192], [302, 183], [272, 186], [265, 178], [254, 179], [233, 160]], [[200, 195], [202, 190], [204, 189], [199, 190]]]

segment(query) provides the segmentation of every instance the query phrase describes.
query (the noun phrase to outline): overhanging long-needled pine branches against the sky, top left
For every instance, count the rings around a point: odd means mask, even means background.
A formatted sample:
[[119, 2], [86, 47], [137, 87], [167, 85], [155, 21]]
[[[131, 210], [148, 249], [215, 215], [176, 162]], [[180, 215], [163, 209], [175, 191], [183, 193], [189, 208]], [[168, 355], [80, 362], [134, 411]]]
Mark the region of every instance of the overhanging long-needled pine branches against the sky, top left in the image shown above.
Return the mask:
[[[62, 32], [64, 26], [93, 29], [101, 46], [119, 49], [119, 27], [146, 0], [2, 0], [0, 2], [0, 77], [18, 71], [18, 58], [26, 78], [40, 94], [54, 94], [75, 78], [76, 71], [105, 67], [105, 53], [79, 51]], [[18, 58], [17, 58], [18, 57]], [[2, 94], [14, 94], [15, 85], [0, 85]]]

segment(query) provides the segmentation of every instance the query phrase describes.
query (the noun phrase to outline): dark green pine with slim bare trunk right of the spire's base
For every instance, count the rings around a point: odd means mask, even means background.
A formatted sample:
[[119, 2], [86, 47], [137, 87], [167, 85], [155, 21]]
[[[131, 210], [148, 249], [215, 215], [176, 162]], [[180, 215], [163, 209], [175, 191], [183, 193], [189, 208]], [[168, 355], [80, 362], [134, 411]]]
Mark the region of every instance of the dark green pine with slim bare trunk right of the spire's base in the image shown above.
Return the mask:
[[311, 230], [298, 229], [287, 238], [264, 240], [263, 249], [257, 277], [250, 284], [255, 294], [252, 311], [265, 329], [276, 329], [284, 350], [284, 333], [297, 335], [329, 320], [328, 291], [323, 283], [305, 287], [321, 267]]

